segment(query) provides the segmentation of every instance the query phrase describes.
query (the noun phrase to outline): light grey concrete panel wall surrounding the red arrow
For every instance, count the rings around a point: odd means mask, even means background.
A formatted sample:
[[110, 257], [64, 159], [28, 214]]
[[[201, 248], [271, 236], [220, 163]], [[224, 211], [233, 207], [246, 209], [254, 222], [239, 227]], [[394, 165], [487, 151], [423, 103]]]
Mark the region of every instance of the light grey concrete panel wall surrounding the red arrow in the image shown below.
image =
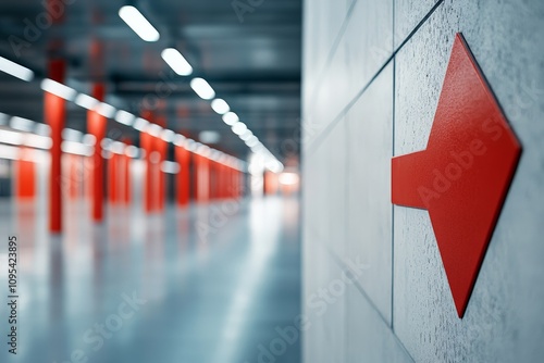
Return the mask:
[[[305, 362], [543, 362], [544, 1], [307, 0], [304, 21]], [[390, 190], [459, 32], [523, 148], [462, 320], [428, 212]]]

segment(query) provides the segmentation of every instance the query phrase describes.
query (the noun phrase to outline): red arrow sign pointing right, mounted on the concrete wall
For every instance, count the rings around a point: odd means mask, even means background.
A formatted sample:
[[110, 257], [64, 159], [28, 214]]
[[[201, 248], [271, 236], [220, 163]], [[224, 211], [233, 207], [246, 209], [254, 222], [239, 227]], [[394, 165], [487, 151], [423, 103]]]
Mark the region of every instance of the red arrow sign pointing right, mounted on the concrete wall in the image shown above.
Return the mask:
[[457, 34], [426, 149], [392, 160], [394, 204], [426, 209], [459, 317], [521, 147]]

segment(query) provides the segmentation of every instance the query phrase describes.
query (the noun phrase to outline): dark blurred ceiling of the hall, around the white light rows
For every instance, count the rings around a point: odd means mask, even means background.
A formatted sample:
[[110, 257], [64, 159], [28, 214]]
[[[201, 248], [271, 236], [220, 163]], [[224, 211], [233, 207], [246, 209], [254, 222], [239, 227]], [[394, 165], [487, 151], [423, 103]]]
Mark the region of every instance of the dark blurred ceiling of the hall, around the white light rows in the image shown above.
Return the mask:
[[[161, 34], [157, 42], [141, 40], [120, 18], [126, 1], [49, 1], [65, 3], [62, 20], [50, 26], [40, 23], [42, 1], [0, 2], [0, 55], [30, 67], [36, 78], [47, 76], [49, 59], [62, 58], [65, 83], [78, 91], [90, 93], [94, 83], [104, 83], [114, 107], [135, 114], [151, 109], [166, 117], [169, 128], [196, 140], [202, 130], [218, 132], [215, 149], [246, 159], [244, 141], [189, 87], [193, 77], [202, 77], [280, 161], [298, 159], [293, 146], [299, 145], [301, 1], [132, 2]], [[162, 60], [169, 47], [191, 64], [190, 76], [176, 75]], [[42, 122], [42, 98], [39, 79], [0, 74], [0, 112]], [[86, 110], [74, 103], [67, 110], [67, 126], [85, 130]], [[138, 138], [114, 121], [110, 128]], [[286, 148], [285, 140], [295, 142]]]

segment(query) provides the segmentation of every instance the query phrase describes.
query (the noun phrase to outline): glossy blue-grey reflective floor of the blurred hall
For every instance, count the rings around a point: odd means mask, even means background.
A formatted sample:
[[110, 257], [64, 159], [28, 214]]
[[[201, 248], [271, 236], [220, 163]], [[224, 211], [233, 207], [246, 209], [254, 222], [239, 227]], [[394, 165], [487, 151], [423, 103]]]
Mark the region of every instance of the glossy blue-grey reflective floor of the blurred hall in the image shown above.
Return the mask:
[[294, 198], [151, 216], [109, 208], [96, 226], [71, 203], [51, 237], [44, 204], [0, 202], [0, 290], [7, 301], [15, 235], [20, 297], [17, 355], [1, 304], [0, 361], [299, 362], [298, 334], [282, 331], [300, 313], [298, 209]]

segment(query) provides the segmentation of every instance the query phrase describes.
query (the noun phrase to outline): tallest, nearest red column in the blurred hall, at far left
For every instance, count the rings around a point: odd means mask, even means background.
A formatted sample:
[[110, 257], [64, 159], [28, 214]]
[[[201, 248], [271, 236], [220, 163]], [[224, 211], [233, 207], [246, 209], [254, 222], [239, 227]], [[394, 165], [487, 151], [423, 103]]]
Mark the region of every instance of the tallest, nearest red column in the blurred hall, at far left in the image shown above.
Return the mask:
[[[49, 62], [49, 78], [63, 83], [66, 65], [62, 60]], [[66, 110], [65, 101], [52, 93], [44, 96], [44, 113], [46, 123], [51, 127], [51, 174], [49, 180], [49, 229], [53, 233], [62, 230], [62, 191], [61, 191], [61, 143], [62, 129]]]

